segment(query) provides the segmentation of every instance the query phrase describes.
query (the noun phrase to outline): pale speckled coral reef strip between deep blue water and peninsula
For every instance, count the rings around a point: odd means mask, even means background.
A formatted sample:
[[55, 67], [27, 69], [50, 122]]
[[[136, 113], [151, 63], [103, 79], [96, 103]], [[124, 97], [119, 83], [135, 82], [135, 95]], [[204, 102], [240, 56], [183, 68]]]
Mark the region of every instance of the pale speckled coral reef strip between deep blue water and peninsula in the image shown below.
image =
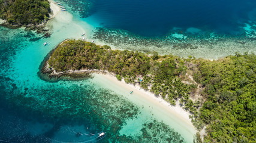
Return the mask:
[[165, 36], [149, 38], [127, 30], [98, 27], [94, 31], [94, 39], [118, 49], [217, 59], [233, 55], [235, 52], [255, 52], [256, 42], [253, 38], [255, 32], [251, 28], [248, 32], [230, 36], [220, 35], [210, 30], [194, 34], [186, 32], [186, 29], [174, 29]]

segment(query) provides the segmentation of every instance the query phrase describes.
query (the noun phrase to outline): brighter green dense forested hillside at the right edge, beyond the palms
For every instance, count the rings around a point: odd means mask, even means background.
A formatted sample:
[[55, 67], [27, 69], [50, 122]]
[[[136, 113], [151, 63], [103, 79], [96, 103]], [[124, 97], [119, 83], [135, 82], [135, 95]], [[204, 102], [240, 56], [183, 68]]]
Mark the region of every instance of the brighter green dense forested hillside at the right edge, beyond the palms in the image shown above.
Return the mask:
[[194, 60], [194, 79], [205, 87], [200, 120], [206, 142], [256, 142], [256, 56]]

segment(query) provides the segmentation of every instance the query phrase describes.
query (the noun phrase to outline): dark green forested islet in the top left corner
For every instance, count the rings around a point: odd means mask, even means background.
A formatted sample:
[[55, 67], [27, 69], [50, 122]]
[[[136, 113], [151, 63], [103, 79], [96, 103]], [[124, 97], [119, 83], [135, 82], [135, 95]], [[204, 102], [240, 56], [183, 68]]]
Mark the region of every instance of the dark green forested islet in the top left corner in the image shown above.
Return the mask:
[[47, 0], [0, 0], [0, 18], [10, 24], [38, 24], [49, 19]]

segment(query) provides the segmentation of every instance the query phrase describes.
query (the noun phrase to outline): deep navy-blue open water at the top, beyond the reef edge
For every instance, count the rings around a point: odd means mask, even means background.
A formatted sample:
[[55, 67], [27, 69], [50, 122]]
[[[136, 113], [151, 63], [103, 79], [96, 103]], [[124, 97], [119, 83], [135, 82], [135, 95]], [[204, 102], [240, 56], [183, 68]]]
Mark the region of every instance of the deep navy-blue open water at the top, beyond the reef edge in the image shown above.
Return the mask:
[[236, 35], [244, 23], [256, 20], [254, 0], [97, 0], [91, 3], [88, 18], [95, 23], [141, 36], [163, 36], [174, 27]]

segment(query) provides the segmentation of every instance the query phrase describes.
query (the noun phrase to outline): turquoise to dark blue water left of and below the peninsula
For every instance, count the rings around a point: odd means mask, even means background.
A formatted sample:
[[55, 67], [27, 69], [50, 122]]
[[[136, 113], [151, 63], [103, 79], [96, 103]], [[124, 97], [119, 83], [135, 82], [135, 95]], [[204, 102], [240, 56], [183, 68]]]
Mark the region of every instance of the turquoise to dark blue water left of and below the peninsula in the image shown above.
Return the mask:
[[[53, 26], [47, 39], [0, 27], [0, 142], [191, 141], [94, 79], [41, 80], [44, 57], [67, 36], [80, 35], [67, 25]], [[50, 45], [43, 46], [46, 41]], [[97, 141], [101, 131], [106, 138]]]

